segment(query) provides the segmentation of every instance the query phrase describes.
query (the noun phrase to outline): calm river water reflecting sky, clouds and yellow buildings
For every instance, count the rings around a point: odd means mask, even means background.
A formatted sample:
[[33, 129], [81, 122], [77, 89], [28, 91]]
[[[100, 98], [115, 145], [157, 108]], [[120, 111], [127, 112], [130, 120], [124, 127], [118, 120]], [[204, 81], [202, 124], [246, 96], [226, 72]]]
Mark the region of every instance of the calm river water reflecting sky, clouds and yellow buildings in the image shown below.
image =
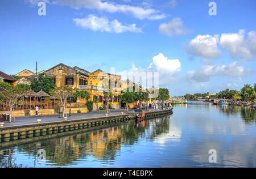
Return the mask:
[[0, 167], [256, 167], [255, 148], [254, 109], [191, 101], [145, 127], [130, 121], [0, 148]]

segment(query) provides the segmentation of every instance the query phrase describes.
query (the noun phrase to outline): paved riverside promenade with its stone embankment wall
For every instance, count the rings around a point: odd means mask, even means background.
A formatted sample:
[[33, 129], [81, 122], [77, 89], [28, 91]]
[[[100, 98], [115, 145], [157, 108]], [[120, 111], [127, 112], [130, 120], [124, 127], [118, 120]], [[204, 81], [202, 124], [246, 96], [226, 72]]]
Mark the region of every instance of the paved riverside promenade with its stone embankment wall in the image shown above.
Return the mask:
[[[150, 110], [146, 111], [145, 119], [163, 116], [170, 113], [172, 113], [172, 108]], [[0, 127], [0, 143], [26, 138], [42, 137], [68, 131], [90, 129], [92, 127], [110, 123], [125, 122], [134, 118], [133, 110], [129, 113], [123, 113], [123, 110], [115, 110], [112, 111], [109, 116], [106, 116], [105, 112], [73, 114], [67, 121], [64, 121], [63, 118], [58, 118], [58, 115], [19, 117], [16, 118], [16, 122], [5, 123], [4, 127]], [[37, 123], [38, 119], [41, 120], [40, 123]]]

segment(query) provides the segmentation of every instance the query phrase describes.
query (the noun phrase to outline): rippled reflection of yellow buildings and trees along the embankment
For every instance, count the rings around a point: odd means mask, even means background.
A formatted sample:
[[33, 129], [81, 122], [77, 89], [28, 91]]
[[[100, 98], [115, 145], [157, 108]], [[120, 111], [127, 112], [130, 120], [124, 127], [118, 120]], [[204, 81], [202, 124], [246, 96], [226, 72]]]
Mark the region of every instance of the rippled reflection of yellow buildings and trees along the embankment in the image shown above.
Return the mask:
[[46, 161], [53, 166], [70, 165], [77, 160], [86, 160], [86, 157], [111, 161], [115, 159], [122, 145], [133, 145], [140, 137], [145, 137], [146, 131], [150, 139], [168, 132], [170, 116], [146, 121], [145, 127], [134, 126], [135, 123], [130, 121], [121, 126], [0, 150], [0, 167], [26, 167], [15, 164], [15, 157], [13, 157], [15, 152], [34, 158], [33, 167], [36, 167], [40, 149], [46, 151]]

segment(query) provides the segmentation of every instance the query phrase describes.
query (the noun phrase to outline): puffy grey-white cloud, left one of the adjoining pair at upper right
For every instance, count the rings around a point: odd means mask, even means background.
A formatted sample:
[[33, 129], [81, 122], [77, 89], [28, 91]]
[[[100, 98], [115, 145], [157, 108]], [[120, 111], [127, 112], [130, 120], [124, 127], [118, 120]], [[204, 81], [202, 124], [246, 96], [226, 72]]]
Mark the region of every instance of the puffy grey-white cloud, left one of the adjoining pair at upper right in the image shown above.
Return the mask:
[[218, 35], [198, 35], [195, 39], [189, 41], [185, 51], [192, 56], [204, 58], [218, 58], [220, 50], [218, 49]]

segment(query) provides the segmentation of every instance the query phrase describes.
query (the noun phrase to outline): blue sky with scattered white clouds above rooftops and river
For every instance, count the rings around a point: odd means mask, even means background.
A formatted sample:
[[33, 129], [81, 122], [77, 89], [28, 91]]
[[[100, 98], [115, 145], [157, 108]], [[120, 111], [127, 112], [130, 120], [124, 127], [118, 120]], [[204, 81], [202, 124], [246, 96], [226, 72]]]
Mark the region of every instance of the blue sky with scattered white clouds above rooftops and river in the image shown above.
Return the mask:
[[0, 70], [159, 71], [171, 96], [255, 82], [256, 2], [207, 0], [0, 1]]

